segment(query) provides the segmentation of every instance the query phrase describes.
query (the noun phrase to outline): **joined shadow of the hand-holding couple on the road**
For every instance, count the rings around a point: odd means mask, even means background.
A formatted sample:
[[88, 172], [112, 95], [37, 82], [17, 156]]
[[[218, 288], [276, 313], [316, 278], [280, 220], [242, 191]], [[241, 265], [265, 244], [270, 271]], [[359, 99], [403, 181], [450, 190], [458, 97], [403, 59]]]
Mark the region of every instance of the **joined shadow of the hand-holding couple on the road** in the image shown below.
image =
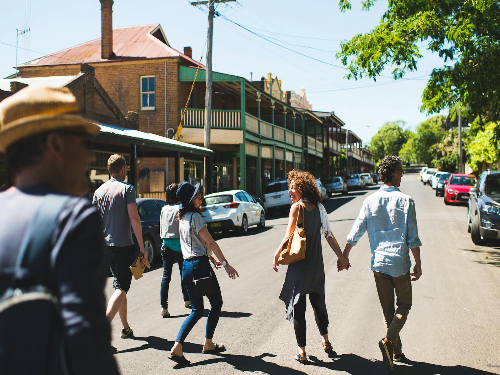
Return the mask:
[[[350, 375], [386, 375], [388, 373], [382, 361], [372, 358], [363, 358], [352, 353], [339, 355], [331, 361], [323, 361], [313, 355], [309, 355], [308, 358], [308, 365], [325, 367], [333, 371], [344, 371]], [[314, 371], [308, 370], [307, 372], [313, 373]], [[393, 373], [397, 375], [493, 375], [493, 372], [478, 370], [467, 366], [444, 366], [409, 359], [401, 362], [401, 364], [394, 363]]]

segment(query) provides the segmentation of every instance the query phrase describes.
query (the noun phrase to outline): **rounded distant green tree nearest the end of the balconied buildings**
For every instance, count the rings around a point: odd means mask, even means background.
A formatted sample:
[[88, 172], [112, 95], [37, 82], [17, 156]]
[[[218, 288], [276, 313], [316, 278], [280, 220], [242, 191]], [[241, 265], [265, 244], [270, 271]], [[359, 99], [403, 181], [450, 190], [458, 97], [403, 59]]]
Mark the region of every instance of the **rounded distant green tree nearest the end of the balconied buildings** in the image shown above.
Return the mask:
[[385, 122], [377, 133], [371, 137], [368, 150], [381, 160], [386, 155], [397, 155], [406, 142], [408, 132], [403, 130], [406, 122], [402, 120]]

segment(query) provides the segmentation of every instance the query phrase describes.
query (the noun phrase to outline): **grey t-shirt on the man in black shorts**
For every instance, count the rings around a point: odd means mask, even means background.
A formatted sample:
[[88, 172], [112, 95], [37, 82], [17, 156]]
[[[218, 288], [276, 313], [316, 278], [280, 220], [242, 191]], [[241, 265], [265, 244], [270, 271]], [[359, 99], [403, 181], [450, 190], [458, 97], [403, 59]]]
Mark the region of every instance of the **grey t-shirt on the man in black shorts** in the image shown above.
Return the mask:
[[99, 209], [106, 244], [132, 245], [132, 230], [126, 205], [135, 203], [135, 188], [122, 180], [111, 178], [95, 190], [92, 203]]

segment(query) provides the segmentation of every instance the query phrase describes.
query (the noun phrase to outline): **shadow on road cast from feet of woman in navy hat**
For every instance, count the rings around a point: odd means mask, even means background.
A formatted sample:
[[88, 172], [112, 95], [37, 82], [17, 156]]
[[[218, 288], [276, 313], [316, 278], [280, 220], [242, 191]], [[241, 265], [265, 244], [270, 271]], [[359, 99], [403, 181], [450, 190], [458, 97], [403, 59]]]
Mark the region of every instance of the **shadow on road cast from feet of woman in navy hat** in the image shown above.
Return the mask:
[[[304, 372], [294, 368], [279, 365], [273, 362], [267, 362], [265, 357], [275, 357], [276, 354], [262, 353], [260, 355], [240, 355], [240, 354], [226, 354], [219, 353], [217, 357], [201, 360], [188, 365], [189, 367], [202, 366], [206, 364], [214, 364], [218, 362], [225, 362], [233, 366], [236, 370], [241, 372], [257, 372], [269, 375], [307, 375], [311, 372]], [[293, 360], [290, 358], [290, 360]], [[185, 366], [175, 365], [173, 368], [181, 368]]]

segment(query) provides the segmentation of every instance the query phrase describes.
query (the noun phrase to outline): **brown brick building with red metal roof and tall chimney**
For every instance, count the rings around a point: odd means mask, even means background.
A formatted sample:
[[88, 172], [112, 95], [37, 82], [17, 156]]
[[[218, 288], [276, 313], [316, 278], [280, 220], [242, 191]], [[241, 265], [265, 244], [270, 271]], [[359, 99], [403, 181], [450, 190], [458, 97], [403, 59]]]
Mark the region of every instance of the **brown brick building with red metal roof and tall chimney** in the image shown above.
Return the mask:
[[[20, 77], [77, 75], [80, 64], [88, 64], [117, 108], [137, 113], [139, 130], [171, 137], [190, 86], [180, 84], [179, 66], [198, 65], [191, 48], [184, 53], [172, 48], [159, 24], [113, 28], [113, 1], [100, 3], [100, 38], [18, 65]], [[147, 157], [144, 162], [163, 181], [162, 188], [174, 180], [174, 158]], [[141, 182], [140, 192], [151, 190], [149, 182]]]

